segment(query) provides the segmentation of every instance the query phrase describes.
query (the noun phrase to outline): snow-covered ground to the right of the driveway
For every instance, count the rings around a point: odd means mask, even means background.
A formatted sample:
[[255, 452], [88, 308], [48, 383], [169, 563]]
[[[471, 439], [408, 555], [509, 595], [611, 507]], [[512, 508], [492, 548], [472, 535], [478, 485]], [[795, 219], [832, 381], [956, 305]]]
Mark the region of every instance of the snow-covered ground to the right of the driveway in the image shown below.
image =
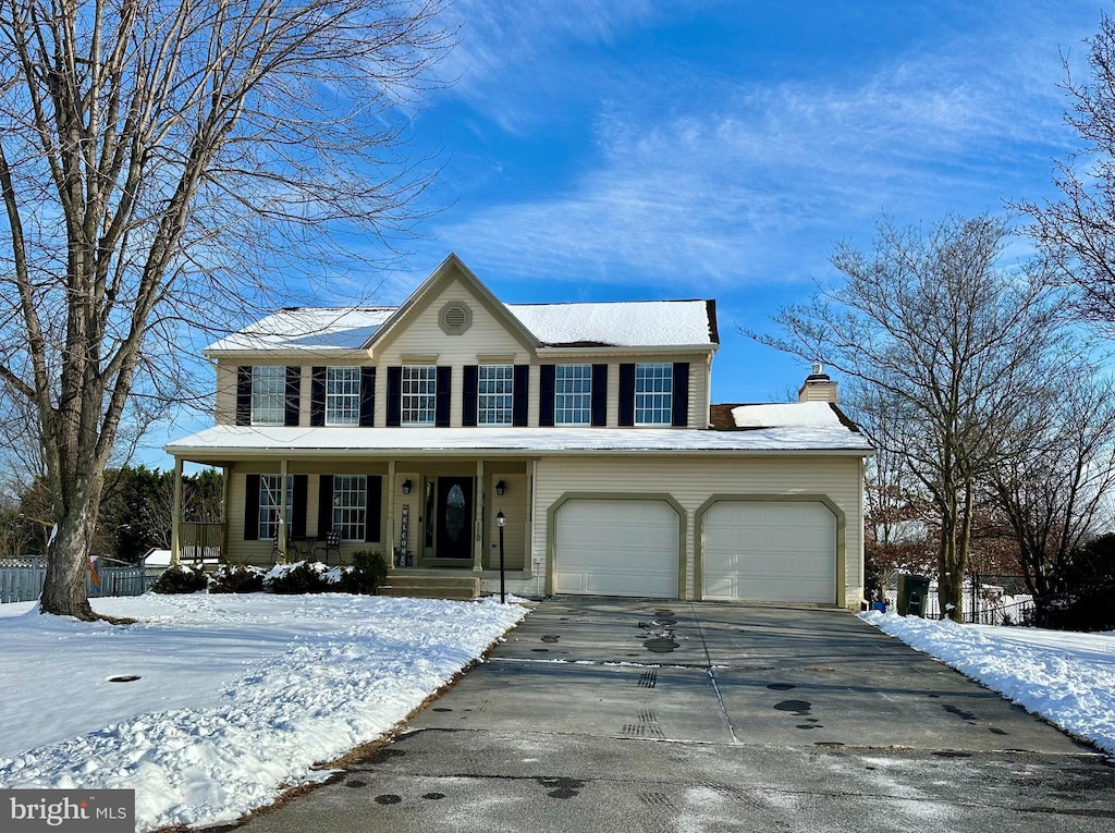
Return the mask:
[[1115, 635], [860, 618], [1115, 757]]

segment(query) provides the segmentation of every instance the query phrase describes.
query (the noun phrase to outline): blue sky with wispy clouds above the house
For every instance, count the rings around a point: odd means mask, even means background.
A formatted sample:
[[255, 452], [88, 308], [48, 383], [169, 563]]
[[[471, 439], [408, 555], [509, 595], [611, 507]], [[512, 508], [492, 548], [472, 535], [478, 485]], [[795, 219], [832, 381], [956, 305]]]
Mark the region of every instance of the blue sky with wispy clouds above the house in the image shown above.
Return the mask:
[[[833, 244], [1051, 196], [1061, 54], [1083, 72], [1099, 0], [455, 0], [456, 79], [414, 116], [434, 213], [375, 300], [454, 251], [507, 302], [716, 298], [715, 401], [796, 391], [759, 347], [833, 277]], [[1019, 241], [1012, 254], [1025, 254]], [[380, 278], [369, 280], [379, 283]], [[307, 299], [326, 303], [332, 299]], [[183, 414], [139, 457], [211, 424]]]

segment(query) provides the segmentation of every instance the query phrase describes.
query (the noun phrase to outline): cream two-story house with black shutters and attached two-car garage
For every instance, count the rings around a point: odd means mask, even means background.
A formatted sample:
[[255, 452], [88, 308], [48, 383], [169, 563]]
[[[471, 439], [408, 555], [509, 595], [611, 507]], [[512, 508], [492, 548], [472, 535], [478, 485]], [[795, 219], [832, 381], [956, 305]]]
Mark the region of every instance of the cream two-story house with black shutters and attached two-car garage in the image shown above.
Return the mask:
[[714, 301], [506, 304], [450, 255], [400, 307], [210, 346], [216, 424], [166, 451], [224, 471], [233, 561], [378, 550], [493, 590], [502, 539], [526, 595], [859, 609], [869, 443], [820, 368], [712, 405], [718, 345]]

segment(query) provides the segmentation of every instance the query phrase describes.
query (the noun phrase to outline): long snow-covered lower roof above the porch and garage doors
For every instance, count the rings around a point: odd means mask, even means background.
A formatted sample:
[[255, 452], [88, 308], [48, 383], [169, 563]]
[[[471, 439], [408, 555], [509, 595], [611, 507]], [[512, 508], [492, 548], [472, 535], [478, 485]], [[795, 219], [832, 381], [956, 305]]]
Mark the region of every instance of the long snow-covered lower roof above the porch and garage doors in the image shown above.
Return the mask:
[[836, 425], [798, 425], [749, 432], [678, 428], [287, 428], [217, 425], [166, 446], [177, 457], [282, 451], [309, 453], [484, 452], [485, 454], [622, 454], [627, 452], [854, 452], [870, 453], [860, 434]]

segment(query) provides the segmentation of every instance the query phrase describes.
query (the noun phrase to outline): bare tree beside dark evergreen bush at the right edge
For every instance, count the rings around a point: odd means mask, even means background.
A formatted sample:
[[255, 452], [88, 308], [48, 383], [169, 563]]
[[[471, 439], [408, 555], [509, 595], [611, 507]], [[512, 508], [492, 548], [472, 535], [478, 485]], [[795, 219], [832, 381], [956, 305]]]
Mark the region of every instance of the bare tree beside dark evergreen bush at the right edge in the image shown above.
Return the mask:
[[1039, 622], [1080, 543], [1112, 520], [1115, 389], [1096, 381], [1092, 368], [1078, 372], [1053, 408], [1039, 406], [1039, 419], [1024, 417], [1020, 430], [1029, 436], [991, 473]]

